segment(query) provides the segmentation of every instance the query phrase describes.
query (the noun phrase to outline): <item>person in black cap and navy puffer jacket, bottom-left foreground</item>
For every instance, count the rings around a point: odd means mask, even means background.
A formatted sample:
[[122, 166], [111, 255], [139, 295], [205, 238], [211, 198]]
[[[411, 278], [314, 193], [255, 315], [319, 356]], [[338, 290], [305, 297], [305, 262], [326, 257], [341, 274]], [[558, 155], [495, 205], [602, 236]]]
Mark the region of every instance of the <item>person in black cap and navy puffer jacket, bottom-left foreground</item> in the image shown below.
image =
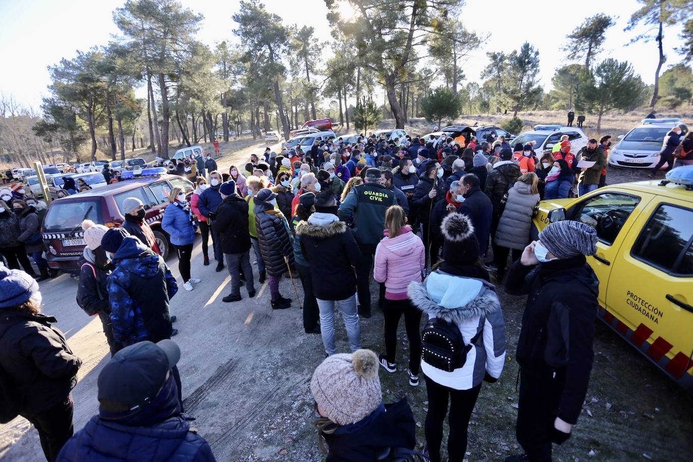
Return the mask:
[[60, 462], [216, 461], [182, 414], [171, 340], [123, 348], [98, 374], [98, 415], [65, 443]]

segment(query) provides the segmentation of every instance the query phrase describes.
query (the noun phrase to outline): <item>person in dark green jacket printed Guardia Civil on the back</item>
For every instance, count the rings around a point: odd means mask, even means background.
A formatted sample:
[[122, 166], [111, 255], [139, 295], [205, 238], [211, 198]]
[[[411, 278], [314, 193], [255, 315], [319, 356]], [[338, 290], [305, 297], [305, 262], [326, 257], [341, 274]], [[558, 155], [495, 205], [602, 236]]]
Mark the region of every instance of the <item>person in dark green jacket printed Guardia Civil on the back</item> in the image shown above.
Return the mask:
[[365, 184], [355, 186], [344, 199], [339, 209], [343, 222], [353, 218], [353, 237], [358, 242], [363, 258], [356, 267], [356, 287], [358, 287], [359, 316], [371, 317], [371, 291], [369, 278], [378, 242], [383, 238], [385, 211], [397, 204], [394, 193], [380, 186], [381, 172], [378, 168], [366, 170]]

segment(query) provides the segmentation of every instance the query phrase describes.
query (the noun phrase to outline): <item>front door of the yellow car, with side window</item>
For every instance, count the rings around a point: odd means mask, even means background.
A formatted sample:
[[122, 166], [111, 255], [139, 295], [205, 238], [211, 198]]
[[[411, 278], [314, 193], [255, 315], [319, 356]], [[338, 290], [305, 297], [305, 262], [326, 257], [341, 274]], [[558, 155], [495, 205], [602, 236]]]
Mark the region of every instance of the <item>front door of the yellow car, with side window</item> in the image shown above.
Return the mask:
[[599, 278], [599, 304], [602, 306], [606, 306], [606, 288], [612, 264], [624, 238], [653, 197], [651, 194], [599, 189], [571, 206], [566, 213], [570, 220], [593, 226], [597, 231], [597, 253], [587, 260]]

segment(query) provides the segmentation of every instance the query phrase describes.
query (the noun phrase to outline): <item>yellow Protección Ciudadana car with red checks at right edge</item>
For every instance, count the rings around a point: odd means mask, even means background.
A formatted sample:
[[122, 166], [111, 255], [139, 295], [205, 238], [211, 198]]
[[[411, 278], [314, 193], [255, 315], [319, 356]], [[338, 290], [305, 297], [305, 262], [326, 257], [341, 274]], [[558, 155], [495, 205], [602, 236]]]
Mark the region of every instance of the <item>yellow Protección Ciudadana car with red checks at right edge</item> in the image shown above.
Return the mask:
[[693, 166], [666, 178], [542, 201], [534, 232], [559, 220], [594, 226], [597, 253], [587, 260], [599, 318], [693, 391]]

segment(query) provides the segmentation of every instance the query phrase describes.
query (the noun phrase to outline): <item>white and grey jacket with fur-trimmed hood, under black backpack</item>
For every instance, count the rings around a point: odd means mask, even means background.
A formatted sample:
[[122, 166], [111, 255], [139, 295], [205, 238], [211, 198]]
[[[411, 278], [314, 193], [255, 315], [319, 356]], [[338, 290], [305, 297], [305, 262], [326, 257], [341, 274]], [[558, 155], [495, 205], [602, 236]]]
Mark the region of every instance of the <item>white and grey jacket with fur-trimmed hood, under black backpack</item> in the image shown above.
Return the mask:
[[461, 368], [446, 372], [422, 359], [421, 371], [426, 377], [455, 390], [476, 387], [486, 373], [494, 379], [500, 377], [505, 363], [505, 323], [493, 285], [437, 269], [423, 283], [409, 285], [409, 298], [429, 320], [440, 317], [455, 323], [465, 344], [483, 330]]

